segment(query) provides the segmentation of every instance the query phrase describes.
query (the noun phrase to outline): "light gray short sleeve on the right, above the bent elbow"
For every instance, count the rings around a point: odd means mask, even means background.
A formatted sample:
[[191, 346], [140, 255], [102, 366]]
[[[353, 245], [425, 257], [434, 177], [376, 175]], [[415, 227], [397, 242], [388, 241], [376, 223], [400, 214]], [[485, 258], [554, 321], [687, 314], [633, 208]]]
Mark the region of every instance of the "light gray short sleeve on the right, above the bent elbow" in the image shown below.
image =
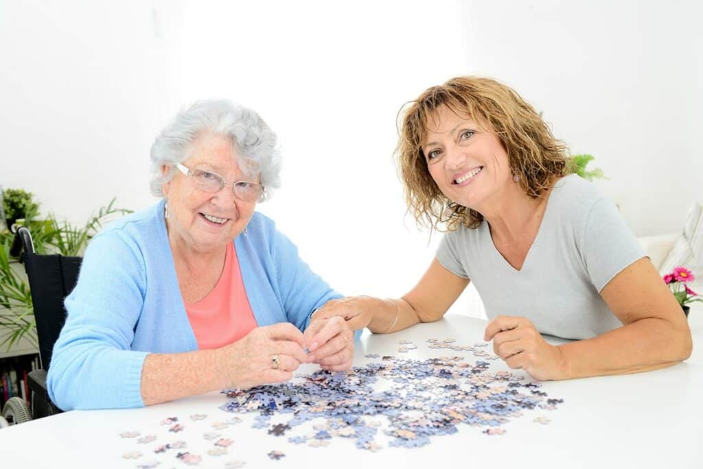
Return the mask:
[[586, 217], [581, 256], [595, 289], [600, 291], [625, 267], [645, 257], [645, 251], [617, 207], [600, 198]]

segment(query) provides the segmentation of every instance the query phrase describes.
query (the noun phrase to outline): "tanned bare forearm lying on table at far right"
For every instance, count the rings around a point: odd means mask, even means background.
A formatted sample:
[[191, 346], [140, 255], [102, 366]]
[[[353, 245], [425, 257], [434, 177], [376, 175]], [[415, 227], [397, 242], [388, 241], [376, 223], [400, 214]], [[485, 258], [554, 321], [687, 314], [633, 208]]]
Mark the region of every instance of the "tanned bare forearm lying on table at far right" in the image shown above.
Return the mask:
[[560, 345], [564, 379], [638, 373], [671, 366], [688, 358], [688, 324], [645, 318], [585, 341]]

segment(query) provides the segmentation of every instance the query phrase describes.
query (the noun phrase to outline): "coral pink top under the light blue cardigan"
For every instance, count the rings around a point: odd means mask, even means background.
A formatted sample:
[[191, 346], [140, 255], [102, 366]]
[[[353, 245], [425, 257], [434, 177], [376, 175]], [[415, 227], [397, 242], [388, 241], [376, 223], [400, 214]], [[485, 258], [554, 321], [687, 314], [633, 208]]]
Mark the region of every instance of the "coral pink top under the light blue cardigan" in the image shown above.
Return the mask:
[[222, 275], [214, 289], [202, 300], [185, 305], [200, 350], [238, 341], [257, 326], [244, 289], [234, 243], [227, 244]]

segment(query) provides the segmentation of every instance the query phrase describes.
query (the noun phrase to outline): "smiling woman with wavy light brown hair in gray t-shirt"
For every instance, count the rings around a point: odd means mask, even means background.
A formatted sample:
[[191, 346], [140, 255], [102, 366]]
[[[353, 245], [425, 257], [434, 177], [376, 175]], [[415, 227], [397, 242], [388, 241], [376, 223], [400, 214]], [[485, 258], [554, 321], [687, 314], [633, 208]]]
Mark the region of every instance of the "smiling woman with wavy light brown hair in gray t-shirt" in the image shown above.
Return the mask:
[[401, 119], [396, 154], [415, 219], [449, 232], [403, 298], [336, 300], [319, 317], [399, 331], [440, 319], [472, 281], [491, 319], [484, 340], [534, 378], [690, 356], [688, 322], [616, 207], [569, 174], [565, 147], [515, 91], [476, 77], [428, 89]]

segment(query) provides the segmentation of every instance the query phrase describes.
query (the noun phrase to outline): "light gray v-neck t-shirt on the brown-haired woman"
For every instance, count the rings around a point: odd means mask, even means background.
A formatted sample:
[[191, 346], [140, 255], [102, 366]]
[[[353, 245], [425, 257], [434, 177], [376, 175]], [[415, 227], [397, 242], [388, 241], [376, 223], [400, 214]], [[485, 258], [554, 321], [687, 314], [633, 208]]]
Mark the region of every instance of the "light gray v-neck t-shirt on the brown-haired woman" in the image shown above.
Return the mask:
[[475, 230], [462, 225], [444, 234], [437, 260], [471, 279], [489, 319], [527, 317], [541, 333], [592, 338], [622, 325], [600, 290], [645, 253], [614, 204], [591, 183], [571, 174], [550, 192], [522, 270], [498, 252], [485, 220]]

